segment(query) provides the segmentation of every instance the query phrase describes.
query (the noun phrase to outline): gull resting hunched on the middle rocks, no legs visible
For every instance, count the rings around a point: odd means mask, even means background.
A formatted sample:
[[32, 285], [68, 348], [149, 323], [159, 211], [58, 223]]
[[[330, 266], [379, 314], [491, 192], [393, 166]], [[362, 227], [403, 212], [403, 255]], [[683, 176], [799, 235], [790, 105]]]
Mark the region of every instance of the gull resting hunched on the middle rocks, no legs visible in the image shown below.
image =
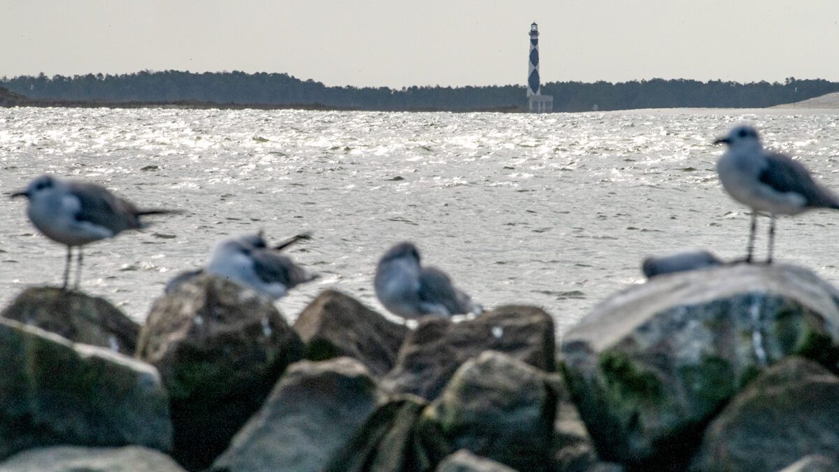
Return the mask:
[[373, 285], [379, 302], [404, 318], [482, 312], [466, 293], [451, 285], [445, 272], [420, 265], [420, 251], [411, 243], [396, 244], [384, 253]]

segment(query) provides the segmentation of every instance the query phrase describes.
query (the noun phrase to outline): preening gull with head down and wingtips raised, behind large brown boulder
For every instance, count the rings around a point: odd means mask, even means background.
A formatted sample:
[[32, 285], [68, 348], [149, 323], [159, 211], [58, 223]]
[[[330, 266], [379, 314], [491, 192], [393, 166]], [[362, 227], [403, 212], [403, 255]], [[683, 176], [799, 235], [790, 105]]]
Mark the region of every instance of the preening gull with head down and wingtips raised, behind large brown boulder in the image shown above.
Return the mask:
[[[261, 231], [226, 239], [216, 246], [210, 264], [204, 271], [252, 288], [271, 300], [277, 300], [285, 296], [292, 287], [317, 278], [317, 275], [308, 273], [288, 257], [279, 254], [280, 249], [303, 239], [311, 237], [309, 234], [298, 234], [273, 247], [268, 247]], [[198, 273], [200, 271], [180, 275], [169, 284], [180, 283], [176, 282], [180, 277], [189, 278], [190, 274]], [[167, 286], [167, 291], [171, 290]]]

